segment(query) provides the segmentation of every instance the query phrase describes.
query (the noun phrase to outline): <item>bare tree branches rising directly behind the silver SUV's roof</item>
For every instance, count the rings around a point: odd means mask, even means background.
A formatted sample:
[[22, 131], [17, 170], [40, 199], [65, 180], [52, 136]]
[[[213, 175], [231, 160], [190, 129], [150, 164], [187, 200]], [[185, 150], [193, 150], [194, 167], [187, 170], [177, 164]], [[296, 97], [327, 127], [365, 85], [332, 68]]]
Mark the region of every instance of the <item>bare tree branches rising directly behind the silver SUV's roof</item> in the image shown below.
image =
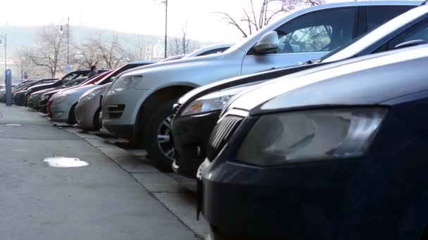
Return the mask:
[[[253, 0], [249, 1], [249, 9], [244, 8], [244, 16], [241, 20], [235, 20], [232, 15], [225, 12], [215, 12], [222, 15], [222, 20], [236, 27], [244, 37], [268, 25], [269, 22], [280, 13], [288, 13], [296, 8], [315, 6], [324, 3], [325, 0], [263, 0], [256, 11]], [[244, 22], [244, 25], [243, 25]]]

